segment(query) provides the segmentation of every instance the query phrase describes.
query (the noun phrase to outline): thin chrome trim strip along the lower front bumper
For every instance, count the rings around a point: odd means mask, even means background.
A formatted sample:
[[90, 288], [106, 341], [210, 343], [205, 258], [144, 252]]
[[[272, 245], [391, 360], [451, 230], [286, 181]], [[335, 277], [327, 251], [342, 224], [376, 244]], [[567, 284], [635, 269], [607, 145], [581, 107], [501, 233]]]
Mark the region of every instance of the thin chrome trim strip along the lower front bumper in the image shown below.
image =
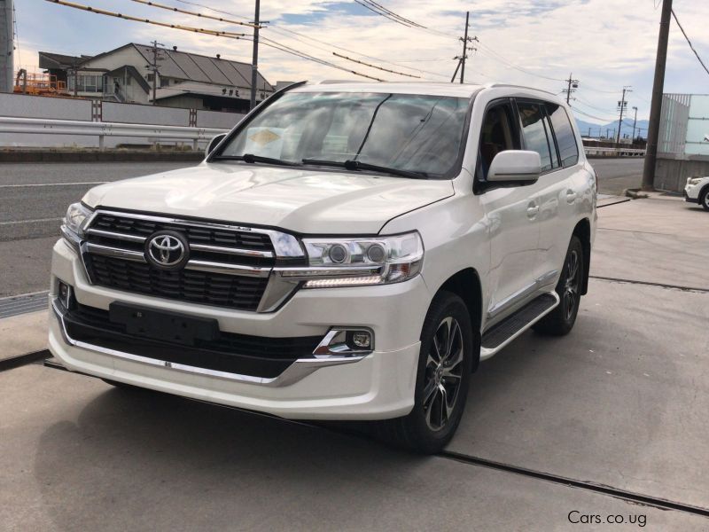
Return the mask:
[[96, 351], [97, 353], [101, 353], [103, 355], [116, 356], [118, 358], [130, 360], [132, 362], [139, 362], [141, 364], [149, 364], [161, 368], [168, 368], [171, 370], [176, 370], [178, 372], [206, 375], [208, 377], [227, 379], [245, 384], [255, 384], [266, 387], [289, 386], [298, 382], [299, 380], [305, 379], [306, 377], [308, 377], [308, 375], [313, 372], [316, 372], [320, 368], [342, 364], [353, 364], [355, 362], [359, 362], [360, 360], [362, 360], [362, 358], [365, 358], [367, 356], [353, 355], [321, 356], [318, 358], [299, 358], [290, 366], [288, 366], [288, 368], [283, 373], [273, 378], [254, 377], [253, 375], [239, 375], [237, 373], [219, 372], [216, 370], [209, 370], [206, 368], [200, 368], [188, 364], [175, 364], [165, 360], [159, 360], [157, 358], [133, 355], [131, 353], [125, 353], [123, 351], [117, 351], [115, 349], [103, 348], [101, 346], [93, 345], [81, 340], [74, 340], [69, 336], [68, 332], [66, 331], [66, 324], [64, 321], [66, 309], [63, 308], [63, 306], [56, 297], [51, 300], [51, 308], [54, 312], [55, 317], [57, 317], [59, 328], [61, 330], [61, 334], [64, 341], [66, 341], [67, 344], [74, 346], [75, 348], [88, 349], [90, 351]]

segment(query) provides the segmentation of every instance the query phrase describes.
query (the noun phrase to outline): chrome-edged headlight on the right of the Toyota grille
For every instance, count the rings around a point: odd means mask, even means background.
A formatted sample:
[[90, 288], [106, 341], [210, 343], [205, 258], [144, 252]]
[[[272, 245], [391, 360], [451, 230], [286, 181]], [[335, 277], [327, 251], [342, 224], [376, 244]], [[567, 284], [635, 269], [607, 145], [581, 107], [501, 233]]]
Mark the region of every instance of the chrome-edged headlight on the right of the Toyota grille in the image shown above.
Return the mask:
[[284, 278], [306, 288], [398, 283], [421, 270], [424, 243], [418, 232], [370, 239], [303, 239], [308, 267], [284, 268]]

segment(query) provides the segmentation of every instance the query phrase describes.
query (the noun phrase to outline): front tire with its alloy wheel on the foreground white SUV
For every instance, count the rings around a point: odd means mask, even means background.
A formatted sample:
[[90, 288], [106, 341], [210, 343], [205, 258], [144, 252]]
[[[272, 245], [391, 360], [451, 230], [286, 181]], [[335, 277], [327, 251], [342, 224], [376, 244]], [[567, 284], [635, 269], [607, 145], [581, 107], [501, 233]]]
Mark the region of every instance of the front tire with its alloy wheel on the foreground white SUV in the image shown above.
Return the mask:
[[381, 422], [387, 442], [425, 454], [450, 442], [465, 409], [473, 348], [464, 301], [454, 293], [436, 294], [421, 332], [414, 408], [403, 418]]

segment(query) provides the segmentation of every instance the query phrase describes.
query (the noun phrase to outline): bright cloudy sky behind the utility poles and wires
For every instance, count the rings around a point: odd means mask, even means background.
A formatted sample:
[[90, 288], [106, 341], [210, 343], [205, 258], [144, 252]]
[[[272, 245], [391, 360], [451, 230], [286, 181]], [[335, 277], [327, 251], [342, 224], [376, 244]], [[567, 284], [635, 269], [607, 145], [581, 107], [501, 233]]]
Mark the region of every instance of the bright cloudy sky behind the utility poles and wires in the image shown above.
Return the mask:
[[[75, 0], [106, 11], [191, 27], [250, 34], [250, 28], [161, 10], [131, 0]], [[190, 0], [219, 9], [159, 0], [161, 4], [232, 20], [253, 20], [253, 0]], [[386, 81], [449, 82], [462, 53], [465, 12], [471, 12], [471, 46], [465, 82], [511, 82], [553, 93], [571, 74], [579, 81], [572, 106], [578, 118], [605, 123], [617, 118], [623, 87], [638, 119], [650, 113], [661, 0], [377, 0], [424, 27], [407, 27], [354, 1], [261, 0], [261, 35], [273, 42]], [[120, 20], [53, 4], [15, 0], [19, 51], [15, 66], [38, 71], [37, 51], [95, 55], [122, 44], [157, 39], [168, 47], [251, 62], [249, 40], [199, 35]], [[709, 66], [709, 1], [674, 0], [674, 12]], [[292, 33], [295, 32], [295, 33]], [[316, 40], [313, 40], [316, 39]], [[419, 79], [362, 66], [371, 65]], [[301, 59], [267, 45], [259, 68], [269, 82], [360, 79], [346, 71]], [[670, 30], [665, 92], [709, 93], [709, 74], [690, 51], [679, 27]]]

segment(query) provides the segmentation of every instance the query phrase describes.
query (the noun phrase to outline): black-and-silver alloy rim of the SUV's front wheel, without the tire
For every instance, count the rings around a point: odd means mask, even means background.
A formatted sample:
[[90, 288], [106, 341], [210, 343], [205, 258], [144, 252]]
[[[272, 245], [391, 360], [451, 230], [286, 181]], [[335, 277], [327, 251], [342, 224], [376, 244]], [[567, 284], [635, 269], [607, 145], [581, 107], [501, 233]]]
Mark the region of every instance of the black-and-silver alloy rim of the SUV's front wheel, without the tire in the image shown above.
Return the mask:
[[448, 425], [463, 379], [464, 342], [455, 317], [441, 320], [426, 358], [424, 412], [432, 431]]

